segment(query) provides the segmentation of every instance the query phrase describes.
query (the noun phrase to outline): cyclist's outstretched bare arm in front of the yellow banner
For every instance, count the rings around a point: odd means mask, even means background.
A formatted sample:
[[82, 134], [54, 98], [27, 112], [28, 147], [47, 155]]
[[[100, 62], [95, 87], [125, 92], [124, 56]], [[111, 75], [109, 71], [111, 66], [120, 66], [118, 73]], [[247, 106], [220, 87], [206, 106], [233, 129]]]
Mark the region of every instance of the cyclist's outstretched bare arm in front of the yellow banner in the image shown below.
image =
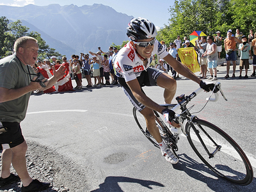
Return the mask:
[[170, 54], [168, 54], [166, 57], [163, 58], [170, 66], [174, 68], [176, 72], [181, 74], [182, 76], [185, 76], [192, 81], [195, 81], [196, 83], [200, 84], [201, 79], [199, 79], [191, 70], [189, 70], [188, 67], [186, 67], [184, 64], [180, 63], [180, 61], [175, 60]]

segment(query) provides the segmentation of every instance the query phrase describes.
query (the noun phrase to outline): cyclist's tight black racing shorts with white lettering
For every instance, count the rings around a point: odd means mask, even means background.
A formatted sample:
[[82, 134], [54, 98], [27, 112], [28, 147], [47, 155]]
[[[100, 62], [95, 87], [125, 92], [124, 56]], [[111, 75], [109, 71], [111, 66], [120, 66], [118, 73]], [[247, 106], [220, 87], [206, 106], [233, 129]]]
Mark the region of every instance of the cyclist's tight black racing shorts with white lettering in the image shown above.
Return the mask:
[[[146, 70], [143, 70], [141, 72], [140, 77], [137, 77], [137, 80], [140, 83], [141, 90], [143, 86], [157, 86], [157, 78], [163, 74], [163, 71], [157, 69], [157, 68], [147, 68]], [[135, 99], [134, 95], [132, 94], [132, 91], [130, 90], [128, 84], [125, 82], [124, 78], [118, 77], [118, 82], [121, 84], [122, 89], [125, 93], [125, 95], [128, 97], [128, 99], [131, 101], [132, 105], [138, 110], [141, 111], [145, 108], [143, 104], [138, 102], [137, 99]], [[143, 90], [142, 90], [143, 92]], [[144, 92], [143, 92], [144, 93]]]

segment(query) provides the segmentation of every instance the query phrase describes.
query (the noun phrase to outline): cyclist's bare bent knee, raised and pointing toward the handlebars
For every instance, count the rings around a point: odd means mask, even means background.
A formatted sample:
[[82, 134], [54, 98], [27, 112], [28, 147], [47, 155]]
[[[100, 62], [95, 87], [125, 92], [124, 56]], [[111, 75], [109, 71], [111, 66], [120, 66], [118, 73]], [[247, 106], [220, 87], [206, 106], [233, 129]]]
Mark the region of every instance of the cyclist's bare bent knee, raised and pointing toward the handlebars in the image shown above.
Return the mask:
[[164, 102], [170, 104], [177, 89], [175, 79], [163, 73], [157, 78], [157, 85], [164, 88]]

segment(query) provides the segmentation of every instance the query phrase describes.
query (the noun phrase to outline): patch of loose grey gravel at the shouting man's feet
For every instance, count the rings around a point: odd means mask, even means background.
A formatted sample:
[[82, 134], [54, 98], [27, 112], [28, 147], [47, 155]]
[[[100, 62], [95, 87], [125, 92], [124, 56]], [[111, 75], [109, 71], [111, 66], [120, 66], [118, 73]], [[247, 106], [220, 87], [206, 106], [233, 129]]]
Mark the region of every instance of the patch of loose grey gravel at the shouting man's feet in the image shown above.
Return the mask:
[[[44, 192], [89, 191], [89, 186], [86, 184], [86, 170], [72, 163], [71, 159], [60, 156], [51, 148], [33, 141], [27, 143], [26, 160], [29, 175], [33, 179], [51, 183], [51, 188]], [[17, 174], [12, 166], [11, 172]], [[20, 188], [21, 182], [18, 182], [4, 186], [0, 191], [20, 192]]]

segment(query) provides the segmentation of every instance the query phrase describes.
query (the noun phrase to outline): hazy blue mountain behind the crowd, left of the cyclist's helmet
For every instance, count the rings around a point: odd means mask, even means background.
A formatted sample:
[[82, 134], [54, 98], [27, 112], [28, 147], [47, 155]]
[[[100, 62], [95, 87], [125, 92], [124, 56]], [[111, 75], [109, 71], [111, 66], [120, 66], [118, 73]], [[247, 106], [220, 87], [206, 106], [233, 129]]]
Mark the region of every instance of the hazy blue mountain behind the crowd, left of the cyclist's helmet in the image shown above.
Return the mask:
[[132, 16], [118, 13], [103, 4], [81, 7], [74, 4], [0, 5], [0, 16], [21, 20], [30, 31], [40, 33], [51, 48], [68, 57], [80, 52], [96, 52], [99, 46], [102, 51], [108, 51], [112, 43], [121, 45], [128, 40], [126, 28], [132, 19]]

